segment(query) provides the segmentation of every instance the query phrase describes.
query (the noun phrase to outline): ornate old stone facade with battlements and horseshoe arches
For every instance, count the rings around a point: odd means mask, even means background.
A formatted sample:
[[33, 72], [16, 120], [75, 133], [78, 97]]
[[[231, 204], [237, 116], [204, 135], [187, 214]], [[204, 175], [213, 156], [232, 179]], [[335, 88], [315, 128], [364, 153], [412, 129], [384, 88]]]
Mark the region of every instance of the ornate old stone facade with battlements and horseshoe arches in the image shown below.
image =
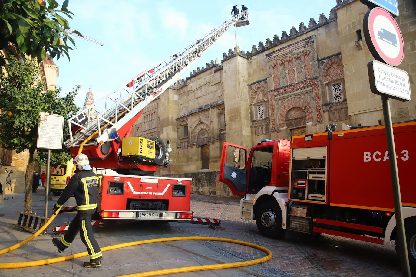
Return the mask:
[[[261, 139], [324, 132], [329, 123], [382, 124], [381, 98], [369, 89], [366, 64], [373, 58], [359, 39], [368, 8], [359, 0], [334, 4], [329, 18], [301, 22], [250, 51], [229, 49], [221, 63], [191, 71], [155, 100], [156, 129], [173, 149], [173, 162], [157, 174], [193, 178], [193, 193], [230, 196], [217, 181], [225, 141], [249, 150]], [[399, 68], [409, 73], [413, 93], [415, 5], [399, 0], [396, 18], [405, 40]], [[416, 119], [415, 101], [391, 101], [393, 121]], [[149, 137], [143, 124], [142, 116], [136, 135]], [[209, 168], [202, 169], [207, 158]]]

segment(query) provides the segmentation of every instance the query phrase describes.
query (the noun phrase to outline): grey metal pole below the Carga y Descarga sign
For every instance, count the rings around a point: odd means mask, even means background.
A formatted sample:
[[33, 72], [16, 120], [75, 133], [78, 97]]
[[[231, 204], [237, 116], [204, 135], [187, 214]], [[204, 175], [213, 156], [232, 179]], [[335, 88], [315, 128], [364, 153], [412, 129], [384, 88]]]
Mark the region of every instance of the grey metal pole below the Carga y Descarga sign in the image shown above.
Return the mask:
[[394, 215], [396, 216], [396, 244], [400, 256], [401, 271], [403, 276], [410, 277], [409, 256], [407, 253], [406, 234], [404, 232], [403, 211], [401, 208], [401, 194], [399, 184], [399, 173], [397, 172], [396, 149], [394, 148], [393, 125], [391, 124], [391, 113], [389, 98], [381, 96], [383, 101], [383, 115], [386, 127], [387, 149], [389, 151], [389, 164], [391, 175], [391, 186], [393, 187]]

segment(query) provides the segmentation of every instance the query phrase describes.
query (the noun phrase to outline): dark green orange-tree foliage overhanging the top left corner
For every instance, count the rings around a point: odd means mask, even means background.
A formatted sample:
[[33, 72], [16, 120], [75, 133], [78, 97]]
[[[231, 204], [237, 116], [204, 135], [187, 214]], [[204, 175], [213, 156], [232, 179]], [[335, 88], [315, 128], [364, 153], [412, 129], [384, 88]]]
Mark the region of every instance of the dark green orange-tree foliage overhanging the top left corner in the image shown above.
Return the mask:
[[73, 15], [67, 7], [68, 0], [61, 6], [56, 0], [1, 0], [0, 49], [6, 49], [6, 57], [0, 58], [0, 66], [10, 55], [27, 55], [40, 62], [49, 52], [50, 59], [64, 54], [69, 59], [72, 48], [67, 43], [75, 46], [75, 42], [66, 32], [69, 23], [63, 16], [72, 19]]

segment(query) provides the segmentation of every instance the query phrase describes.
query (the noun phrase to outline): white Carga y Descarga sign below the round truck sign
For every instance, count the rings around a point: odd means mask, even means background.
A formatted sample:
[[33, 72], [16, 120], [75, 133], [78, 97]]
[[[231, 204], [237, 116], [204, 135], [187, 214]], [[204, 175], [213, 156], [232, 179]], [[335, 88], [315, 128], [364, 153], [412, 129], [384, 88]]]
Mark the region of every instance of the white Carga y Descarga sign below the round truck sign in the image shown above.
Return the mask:
[[379, 61], [370, 61], [367, 67], [373, 93], [400, 101], [411, 100], [409, 74], [406, 71]]

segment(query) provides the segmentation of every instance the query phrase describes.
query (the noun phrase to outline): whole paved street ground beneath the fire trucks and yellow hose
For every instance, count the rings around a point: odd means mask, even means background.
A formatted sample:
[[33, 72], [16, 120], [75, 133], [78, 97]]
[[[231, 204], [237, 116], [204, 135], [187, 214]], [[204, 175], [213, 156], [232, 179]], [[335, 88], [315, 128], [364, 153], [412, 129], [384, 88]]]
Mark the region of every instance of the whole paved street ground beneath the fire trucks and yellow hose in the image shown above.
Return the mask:
[[[44, 190], [33, 194], [33, 210], [43, 215]], [[27, 238], [30, 233], [11, 226], [23, 207], [23, 194], [5, 200], [0, 206], [0, 248]], [[57, 196], [50, 201], [49, 214]], [[265, 238], [254, 223], [240, 219], [239, 200], [214, 196], [191, 196], [191, 210], [196, 216], [220, 218], [225, 230], [186, 223], [133, 222], [106, 224], [94, 227], [94, 235], [101, 247], [151, 238], [179, 236], [210, 236], [232, 238], [265, 246], [273, 252], [266, 263], [236, 269], [181, 273], [169, 276], [400, 276], [400, 265], [394, 245], [370, 243], [322, 235], [316, 240], [287, 240]], [[65, 206], [74, 205], [71, 198]], [[75, 213], [59, 214], [51, 226], [69, 222]], [[115, 224], [116, 223], [116, 224]], [[0, 263], [42, 260], [59, 257], [51, 243], [52, 232], [40, 235], [26, 245], [0, 256]], [[66, 255], [85, 251], [79, 236], [65, 251]], [[137, 245], [103, 252], [103, 266], [86, 269], [87, 257], [37, 267], [0, 270], [0, 276], [116, 276], [136, 272], [237, 262], [264, 257], [260, 250], [242, 245], [214, 241], [181, 241]]]

